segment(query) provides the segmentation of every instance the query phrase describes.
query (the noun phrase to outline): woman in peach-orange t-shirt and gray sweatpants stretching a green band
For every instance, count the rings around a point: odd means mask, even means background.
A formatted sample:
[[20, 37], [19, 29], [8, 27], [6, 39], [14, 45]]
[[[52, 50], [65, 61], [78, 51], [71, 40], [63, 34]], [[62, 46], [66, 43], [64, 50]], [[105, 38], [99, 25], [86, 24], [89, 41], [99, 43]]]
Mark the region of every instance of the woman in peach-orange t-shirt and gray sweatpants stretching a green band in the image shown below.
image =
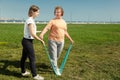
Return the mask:
[[57, 67], [57, 60], [64, 46], [64, 36], [66, 36], [71, 41], [71, 43], [74, 43], [74, 41], [72, 40], [72, 38], [69, 36], [67, 32], [67, 24], [64, 21], [64, 19], [62, 19], [63, 14], [64, 14], [64, 11], [62, 7], [60, 6], [55, 7], [55, 10], [54, 10], [55, 18], [49, 21], [47, 26], [43, 29], [43, 31], [40, 34], [40, 38], [43, 39], [44, 34], [48, 30], [50, 30], [49, 37], [48, 37], [49, 54], [54, 63], [54, 66], [56, 67], [58, 75], [61, 75], [61, 74]]

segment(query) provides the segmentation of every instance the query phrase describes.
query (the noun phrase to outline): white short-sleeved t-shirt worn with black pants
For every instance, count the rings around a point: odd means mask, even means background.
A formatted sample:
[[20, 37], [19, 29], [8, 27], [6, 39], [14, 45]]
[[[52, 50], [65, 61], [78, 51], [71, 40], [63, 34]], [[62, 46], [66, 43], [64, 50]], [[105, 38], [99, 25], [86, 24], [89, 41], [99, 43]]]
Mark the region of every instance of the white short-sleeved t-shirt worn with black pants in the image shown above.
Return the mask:
[[34, 39], [31, 34], [30, 34], [30, 31], [29, 31], [29, 27], [28, 27], [28, 24], [33, 24], [33, 27], [34, 27], [34, 33], [36, 34], [36, 30], [37, 30], [37, 27], [36, 27], [36, 24], [35, 24], [35, 21], [32, 17], [29, 17], [25, 24], [24, 24], [24, 38], [26, 39]]

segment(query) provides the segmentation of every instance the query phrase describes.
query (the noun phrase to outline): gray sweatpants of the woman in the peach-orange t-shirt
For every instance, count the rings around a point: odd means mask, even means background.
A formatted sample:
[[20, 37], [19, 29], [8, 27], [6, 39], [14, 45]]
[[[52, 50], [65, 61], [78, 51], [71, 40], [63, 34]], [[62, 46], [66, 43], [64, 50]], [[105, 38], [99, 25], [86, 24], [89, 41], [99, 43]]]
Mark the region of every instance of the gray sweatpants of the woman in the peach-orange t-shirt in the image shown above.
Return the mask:
[[52, 59], [55, 67], [57, 67], [57, 60], [60, 57], [63, 47], [64, 47], [64, 41], [57, 42], [53, 40], [48, 40], [50, 58]]

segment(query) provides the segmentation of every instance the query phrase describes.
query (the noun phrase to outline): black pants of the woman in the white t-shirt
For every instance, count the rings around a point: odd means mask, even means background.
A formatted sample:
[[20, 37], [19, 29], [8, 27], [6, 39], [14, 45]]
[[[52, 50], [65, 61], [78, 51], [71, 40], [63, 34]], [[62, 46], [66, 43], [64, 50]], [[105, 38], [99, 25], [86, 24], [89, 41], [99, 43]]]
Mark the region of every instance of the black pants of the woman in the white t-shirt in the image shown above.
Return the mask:
[[22, 54], [22, 58], [21, 58], [22, 72], [25, 72], [25, 60], [28, 57], [29, 61], [30, 61], [31, 73], [32, 73], [32, 76], [34, 77], [37, 74], [36, 74], [35, 54], [34, 54], [32, 40], [23, 39], [22, 45], [23, 45], [23, 54]]

